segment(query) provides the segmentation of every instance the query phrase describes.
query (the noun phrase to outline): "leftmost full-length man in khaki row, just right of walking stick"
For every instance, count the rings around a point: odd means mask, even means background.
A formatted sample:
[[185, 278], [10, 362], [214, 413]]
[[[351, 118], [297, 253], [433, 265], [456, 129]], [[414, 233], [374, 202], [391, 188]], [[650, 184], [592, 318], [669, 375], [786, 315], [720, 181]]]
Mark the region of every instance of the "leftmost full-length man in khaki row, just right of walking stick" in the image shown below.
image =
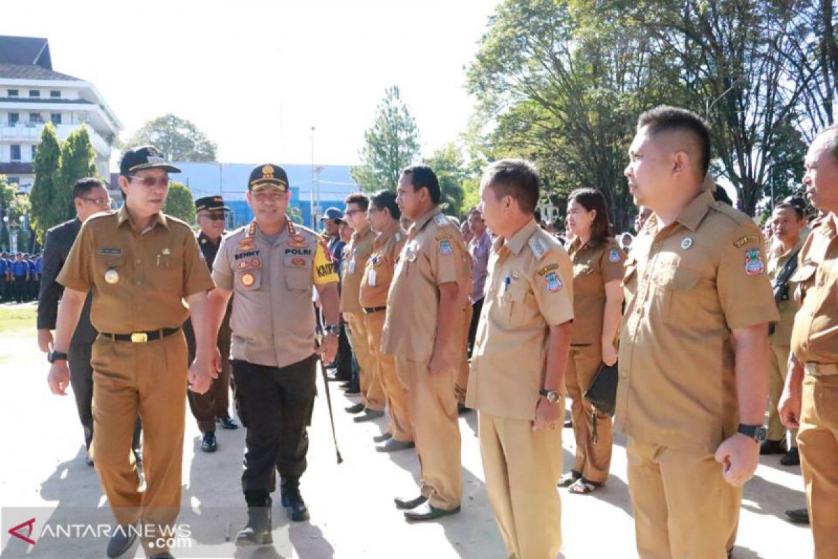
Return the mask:
[[384, 415], [384, 389], [375, 375], [375, 362], [370, 353], [364, 309], [359, 301], [361, 280], [364, 268], [370, 259], [375, 233], [367, 220], [370, 199], [366, 194], [349, 194], [345, 200], [344, 218], [352, 226], [354, 233], [344, 249], [344, 264], [341, 270], [340, 312], [349, 325], [349, 342], [360, 367], [361, 401], [347, 408], [349, 413], [364, 415], [355, 417], [355, 422], [368, 422]]

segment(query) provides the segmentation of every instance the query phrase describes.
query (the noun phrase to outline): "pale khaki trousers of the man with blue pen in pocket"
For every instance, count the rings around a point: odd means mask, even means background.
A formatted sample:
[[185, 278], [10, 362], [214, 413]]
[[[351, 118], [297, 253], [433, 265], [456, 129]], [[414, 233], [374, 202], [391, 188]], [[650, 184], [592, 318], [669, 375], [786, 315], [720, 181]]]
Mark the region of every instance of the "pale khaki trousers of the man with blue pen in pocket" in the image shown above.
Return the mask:
[[[564, 401], [561, 401], [564, 409]], [[561, 428], [478, 413], [486, 493], [515, 559], [555, 559], [561, 548]]]

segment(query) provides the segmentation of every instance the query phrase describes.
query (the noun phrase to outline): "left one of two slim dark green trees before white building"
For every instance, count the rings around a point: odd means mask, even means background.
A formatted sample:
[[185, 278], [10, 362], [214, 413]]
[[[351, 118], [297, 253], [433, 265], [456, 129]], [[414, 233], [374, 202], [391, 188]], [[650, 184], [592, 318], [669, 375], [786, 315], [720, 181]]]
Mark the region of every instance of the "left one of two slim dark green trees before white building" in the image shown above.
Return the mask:
[[61, 153], [58, 135], [52, 122], [48, 122], [41, 132], [41, 142], [35, 152], [33, 163], [35, 181], [29, 202], [32, 207], [30, 220], [35, 236], [41, 242], [44, 233], [53, 225], [58, 225], [65, 215], [56, 214], [54, 200], [59, 197], [61, 188]]

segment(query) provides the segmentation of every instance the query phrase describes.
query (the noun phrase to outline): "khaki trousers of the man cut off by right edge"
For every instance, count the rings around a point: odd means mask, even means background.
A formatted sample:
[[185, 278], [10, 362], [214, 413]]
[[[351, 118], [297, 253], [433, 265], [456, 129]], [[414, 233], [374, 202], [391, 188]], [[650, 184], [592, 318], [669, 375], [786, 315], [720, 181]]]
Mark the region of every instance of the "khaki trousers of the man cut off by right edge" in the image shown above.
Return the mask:
[[838, 557], [838, 375], [804, 377], [797, 440], [815, 559], [834, 559]]

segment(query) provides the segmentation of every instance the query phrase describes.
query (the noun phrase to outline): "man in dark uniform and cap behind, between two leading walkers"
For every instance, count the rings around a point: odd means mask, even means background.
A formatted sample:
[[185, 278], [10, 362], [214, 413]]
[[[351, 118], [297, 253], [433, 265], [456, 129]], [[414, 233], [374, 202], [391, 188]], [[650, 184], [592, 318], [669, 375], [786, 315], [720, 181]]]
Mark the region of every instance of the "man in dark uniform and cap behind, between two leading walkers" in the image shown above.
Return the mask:
[[[227, 212], [230, 208], [225, 206], [221, 196], [205, 196], [195, 200], [196, 220], [200, 232], [198, 234], [198, 246], [204, 254], [209, 271], [212, 272], [212, 265], [215, 255], [224, 235], [224, 226], [227, 220]], [[195, 336], [192, 329], [191, 319], [184, 323], [184, 334], [186, 334], [186, 345], [189, 348], [189, 363], [195, 356]], [[198, 422], [198, 428], [203, 433], [201, 438], [201, 450], [204, 453], [213, 453], [218, 449], [218, 442], [215, 440], [215, 422], [220, 422], [222, 428], [238, 429], [239, 424], [230, 417], [230, 308], [225, 313], [224, 320], [218, 331], [218, 350], [221, 354], [221, 370], [218, 378], [212, 383], [212, 387], [204, 394], [189, 392], [189, 409]]]

